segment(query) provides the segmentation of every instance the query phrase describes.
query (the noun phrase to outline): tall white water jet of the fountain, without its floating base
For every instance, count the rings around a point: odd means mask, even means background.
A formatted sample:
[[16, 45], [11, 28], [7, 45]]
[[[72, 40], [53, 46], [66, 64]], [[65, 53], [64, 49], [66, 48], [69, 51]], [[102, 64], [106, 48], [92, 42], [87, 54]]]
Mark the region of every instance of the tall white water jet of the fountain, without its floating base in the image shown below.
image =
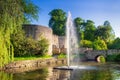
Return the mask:
[[76, 27], [72, 21], [71, 13], [68, 12], [66, 22], [66, 38], [67, 38], [67, 66], [78, 66], [80, 62], [79, 47]]

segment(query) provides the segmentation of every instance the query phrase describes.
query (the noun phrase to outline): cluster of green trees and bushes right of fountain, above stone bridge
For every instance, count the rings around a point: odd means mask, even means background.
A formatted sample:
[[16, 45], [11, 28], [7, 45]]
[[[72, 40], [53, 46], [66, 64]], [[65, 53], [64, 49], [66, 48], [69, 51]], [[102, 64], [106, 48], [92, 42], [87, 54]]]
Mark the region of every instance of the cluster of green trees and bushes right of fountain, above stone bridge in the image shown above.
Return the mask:
[[[85, 21], [80, 17], [75, 18], [74, 23], [81, 38], [81, 47], [92, 47], [98, 50], [107, 49], [114, 40], [115, 34], [109, 21], [105, 21], [103, 25], [97, 28], [92, 20]], [[102, 46], [104, 48], [101, 48]]]

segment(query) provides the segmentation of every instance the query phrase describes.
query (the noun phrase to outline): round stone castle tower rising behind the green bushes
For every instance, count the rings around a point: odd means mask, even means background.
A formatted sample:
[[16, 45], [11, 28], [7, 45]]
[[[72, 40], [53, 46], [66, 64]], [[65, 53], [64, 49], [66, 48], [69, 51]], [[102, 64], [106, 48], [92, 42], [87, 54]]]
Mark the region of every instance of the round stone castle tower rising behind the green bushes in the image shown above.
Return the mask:
[[44, 36], [49, 41], [49, 50], [48, 53], [52, 54], [52, 29], [41, 26], [41, 25], [31, 25], [31, 24], [25, 24], [23, 25], [23, 29], [25, 30], [26, 36], [32, 36], [33, 39], [39, 40], [40, 36]]

